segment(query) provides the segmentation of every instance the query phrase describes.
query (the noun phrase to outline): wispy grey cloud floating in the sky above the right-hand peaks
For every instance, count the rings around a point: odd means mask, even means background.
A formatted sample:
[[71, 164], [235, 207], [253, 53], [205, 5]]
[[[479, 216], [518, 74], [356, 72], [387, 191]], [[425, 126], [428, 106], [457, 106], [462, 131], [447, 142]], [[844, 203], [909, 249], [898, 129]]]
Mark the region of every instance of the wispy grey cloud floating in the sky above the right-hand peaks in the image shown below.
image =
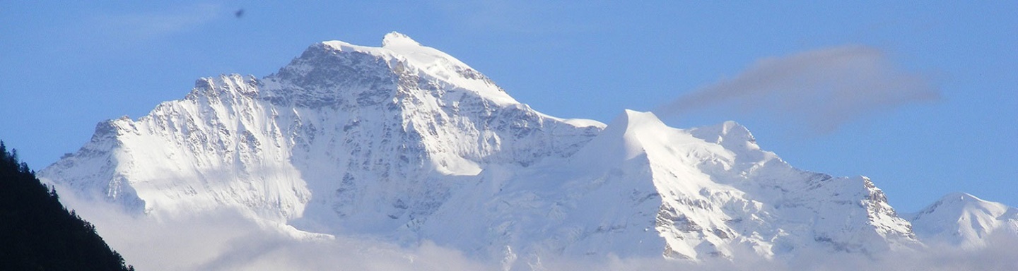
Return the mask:
[[730, 108], [828, 133], [867, 114], [940, 96], [928, 78], [901, 70], [881, 50], [843, 46], [759, 60], [656, 112], [681, 116]]

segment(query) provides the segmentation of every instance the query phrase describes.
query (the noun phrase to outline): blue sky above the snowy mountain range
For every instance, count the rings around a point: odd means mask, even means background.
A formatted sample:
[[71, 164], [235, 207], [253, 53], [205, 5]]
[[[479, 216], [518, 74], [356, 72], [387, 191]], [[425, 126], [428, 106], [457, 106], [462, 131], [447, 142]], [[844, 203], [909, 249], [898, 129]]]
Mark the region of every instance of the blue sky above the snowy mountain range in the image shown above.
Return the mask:
[[[809, 108], [825, 95], [789, 92], [762, 99], [794, 95], [802, 110], [745, 110], [749, 97], [662, 118], [680, 128], [737, 121], [797, 167], [872, 178], [901, 212], [954, 191], [1018, 206], [1011, 2], [0, 2], [0, 139], [34, 168], [76, 150], [100, 121], [144, 116], [199, 77], [271, 74], [321, 41], [379, 46], [400, 31], [538, 111], [602, 122], [811, 52], [862, 48], [890, 82], [913, 78], [935, 96], [884, 103], [870, 95], [899, 84], [880, 81], [841, 93], [856, 104]], [[832, 106], [848, 117], [812, 118]]]

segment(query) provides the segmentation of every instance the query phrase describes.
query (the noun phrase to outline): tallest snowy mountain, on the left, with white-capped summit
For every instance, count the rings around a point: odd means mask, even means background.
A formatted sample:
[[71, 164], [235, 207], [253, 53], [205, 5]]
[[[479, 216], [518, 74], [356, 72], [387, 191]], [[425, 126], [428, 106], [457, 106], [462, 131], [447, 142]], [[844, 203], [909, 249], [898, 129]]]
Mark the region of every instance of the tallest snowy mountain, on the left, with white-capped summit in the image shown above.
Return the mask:
[[184, 99], [105, 122], [41, 172], [135, 212], [237, 207], [325, 232], [392, 231], [490, 163], [575, 152], [603, 128], [545, 116], [400, 33], [309, 47], [263, 79], [203, 78]]

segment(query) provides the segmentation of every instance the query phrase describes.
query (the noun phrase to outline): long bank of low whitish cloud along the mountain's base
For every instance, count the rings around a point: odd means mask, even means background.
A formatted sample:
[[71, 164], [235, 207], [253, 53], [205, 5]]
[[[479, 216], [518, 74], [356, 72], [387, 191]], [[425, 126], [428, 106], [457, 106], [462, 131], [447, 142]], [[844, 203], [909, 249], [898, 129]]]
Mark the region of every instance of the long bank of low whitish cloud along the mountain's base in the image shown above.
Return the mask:
[[1014, 270], [1018, 236], [989, 236], [987, 246], [959, 250], [932, 245], [915, 251], [866, 257], [857, 254], [796, 255], [769, 260], [737, 252], [735, 260], [690, 263], [661, 257], [583, 258], [520, 255], [503, 265], [423, 242], [406, 248], [367, 236], [331, 236], [256, 221], [236, 211], [208, 211], [181, 217], [133, 217], [112, 205], [68, 206], [97, 225], [99, 233], [138, 270]]

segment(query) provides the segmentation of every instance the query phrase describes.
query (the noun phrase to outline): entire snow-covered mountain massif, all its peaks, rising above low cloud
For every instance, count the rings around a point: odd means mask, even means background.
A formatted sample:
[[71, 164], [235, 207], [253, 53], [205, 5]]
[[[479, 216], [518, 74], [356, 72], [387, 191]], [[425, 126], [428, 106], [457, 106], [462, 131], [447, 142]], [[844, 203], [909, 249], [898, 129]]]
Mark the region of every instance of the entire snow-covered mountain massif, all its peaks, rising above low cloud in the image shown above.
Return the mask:
[[[607, 126], [547, 116], [397, 32], [381, 48], [313, 45], [261, 79], [200, 79], [148, 116], [100, 123], [40, 176], [135, 215], [232, 208], [508, 265], [546, 255], [878, 255], [921, 247], [923, 234], [947, 232], [948, 216], [973, 213], [935, 206], [910, 223], [869, 179], [794, 168], [734, 122], [676, 129], [633, 111]], [[1010, 222], [978, 225], [1013, 228], [1014, 209], [992, 206], [986, 215]]]

